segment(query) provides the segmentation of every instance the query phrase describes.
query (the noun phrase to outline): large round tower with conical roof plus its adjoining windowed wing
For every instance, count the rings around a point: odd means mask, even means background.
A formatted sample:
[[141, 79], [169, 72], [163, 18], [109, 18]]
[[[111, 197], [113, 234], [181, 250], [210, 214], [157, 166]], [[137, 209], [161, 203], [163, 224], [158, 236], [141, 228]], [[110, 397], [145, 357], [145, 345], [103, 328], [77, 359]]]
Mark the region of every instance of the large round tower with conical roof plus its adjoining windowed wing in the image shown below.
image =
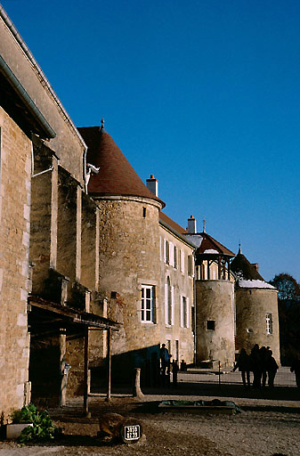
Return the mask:
[[153, 384], [162, 343], [174, 359], [193, 361], [193, 246], [161, 212], [156, 179], [142, 183], [103, 123], [78, 130], [88, 163], [99, 168], [88, 191], [100, 209], [100, 297], [109, 317], [123, 323], [113, 339], [113, 371], [124, 377], [141, 367], [142, 381]]

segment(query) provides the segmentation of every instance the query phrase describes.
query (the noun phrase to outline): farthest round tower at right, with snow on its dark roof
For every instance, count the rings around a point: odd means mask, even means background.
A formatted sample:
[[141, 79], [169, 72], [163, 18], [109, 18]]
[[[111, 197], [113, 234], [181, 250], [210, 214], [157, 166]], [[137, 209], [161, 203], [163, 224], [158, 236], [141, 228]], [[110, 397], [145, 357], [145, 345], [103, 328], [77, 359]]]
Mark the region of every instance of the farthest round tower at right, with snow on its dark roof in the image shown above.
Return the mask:
[[231, 263], [237, 277], [236, 294], [236, 347], [247, 353], [258, 344], [270, 346], [280, 363], [280, 334], [277, 289], [264, 281], [258, 265], [248, 262], [240, 249]]

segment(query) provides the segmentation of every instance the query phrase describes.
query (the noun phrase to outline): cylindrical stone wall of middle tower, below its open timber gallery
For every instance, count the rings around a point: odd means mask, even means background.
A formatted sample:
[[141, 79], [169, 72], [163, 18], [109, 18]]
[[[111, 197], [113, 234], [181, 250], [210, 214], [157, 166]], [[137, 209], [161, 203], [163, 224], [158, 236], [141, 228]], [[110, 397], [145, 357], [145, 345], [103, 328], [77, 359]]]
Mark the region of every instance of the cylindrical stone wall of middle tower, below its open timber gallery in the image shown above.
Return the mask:
[[[196, 281], [197, 362], [234, 362], [234, 288], [231, 281]], [[215, 329], [207, 329], [207, 321]]]

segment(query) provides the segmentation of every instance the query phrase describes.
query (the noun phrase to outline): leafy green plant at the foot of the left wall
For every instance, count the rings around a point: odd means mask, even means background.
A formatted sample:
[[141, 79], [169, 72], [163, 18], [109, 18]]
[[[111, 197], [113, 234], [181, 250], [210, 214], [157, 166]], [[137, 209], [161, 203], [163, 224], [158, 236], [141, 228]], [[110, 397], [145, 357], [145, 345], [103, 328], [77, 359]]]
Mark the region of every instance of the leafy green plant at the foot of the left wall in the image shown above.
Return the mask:
[[18, 438], [20, 444], [36, 440], [50, 440], [58, 436], [60, 429], [53, 426], [52, 419], [47, 411], [37, 411], [36, 405], [30, 403], [20, 410], [13, 411], [12, 423], [32, 423], [33, 426], [24, 428]]

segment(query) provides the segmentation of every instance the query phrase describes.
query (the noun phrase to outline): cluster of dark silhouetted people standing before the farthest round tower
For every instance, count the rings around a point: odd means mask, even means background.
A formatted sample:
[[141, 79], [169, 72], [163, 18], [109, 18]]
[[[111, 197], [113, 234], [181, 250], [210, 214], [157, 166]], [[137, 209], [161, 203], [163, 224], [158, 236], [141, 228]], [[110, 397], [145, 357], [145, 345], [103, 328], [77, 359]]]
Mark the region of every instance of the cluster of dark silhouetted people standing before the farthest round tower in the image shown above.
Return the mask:
[[258, 344], [255, 344], [250, 354], [247, 354], [245, 348], [242, 348], [232, 371], [234, 372], [238, 368], [241, 372], [244, 387], [251, 387], [250, 372], [253, 372], [252, 387], [265, 387], [267, 379], [269, 387], [274, 387], [278, 364], [272, 356], [270, 346], [262, 346], [260, 348]]

